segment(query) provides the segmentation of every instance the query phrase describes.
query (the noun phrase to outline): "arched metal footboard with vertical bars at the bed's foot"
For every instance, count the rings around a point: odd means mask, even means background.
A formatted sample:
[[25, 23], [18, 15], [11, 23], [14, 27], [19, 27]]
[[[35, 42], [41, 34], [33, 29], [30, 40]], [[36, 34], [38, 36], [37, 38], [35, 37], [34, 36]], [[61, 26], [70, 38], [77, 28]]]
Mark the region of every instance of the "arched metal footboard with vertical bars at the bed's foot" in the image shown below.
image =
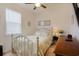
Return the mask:
[[18, 56], [33, 56], [34, 43], [23, 34], [12, 35], [12, 52]]

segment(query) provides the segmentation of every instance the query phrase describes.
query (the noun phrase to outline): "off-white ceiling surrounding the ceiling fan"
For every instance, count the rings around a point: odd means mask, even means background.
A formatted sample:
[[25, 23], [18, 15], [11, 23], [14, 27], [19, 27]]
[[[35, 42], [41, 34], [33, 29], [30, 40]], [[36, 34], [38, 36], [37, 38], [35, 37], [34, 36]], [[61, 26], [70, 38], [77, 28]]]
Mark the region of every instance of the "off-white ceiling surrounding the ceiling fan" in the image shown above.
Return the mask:
[[[60, 8], [63, 7], [63, 5], [65, 5], [65, 3], [43, 3], [47, 8], [44, 9], [42, 7], [37, 8], [36, 10], [34, 10], [34, 4], [20, 4], [21, 6], [25, 7], [26, 9], [30, 10], [31, 12], [40, 14], [40, 13], [47, 13], [47, 12], [52, 12], [54, 10], [58, 10]], [[67, 3], [66, 3], [67, 4]]]

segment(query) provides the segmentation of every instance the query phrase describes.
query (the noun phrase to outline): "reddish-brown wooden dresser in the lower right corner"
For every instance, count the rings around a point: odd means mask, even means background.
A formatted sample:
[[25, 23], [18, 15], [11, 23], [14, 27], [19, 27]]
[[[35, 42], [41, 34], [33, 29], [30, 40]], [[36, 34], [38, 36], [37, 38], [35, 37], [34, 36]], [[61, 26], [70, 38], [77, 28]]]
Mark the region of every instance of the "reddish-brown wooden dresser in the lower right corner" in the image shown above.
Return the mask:
[[64, 56], [79, 56], [79, 43], [75, 39], [66, 41], [64, 37], [61, 37], [56, 43], [54, 53]]

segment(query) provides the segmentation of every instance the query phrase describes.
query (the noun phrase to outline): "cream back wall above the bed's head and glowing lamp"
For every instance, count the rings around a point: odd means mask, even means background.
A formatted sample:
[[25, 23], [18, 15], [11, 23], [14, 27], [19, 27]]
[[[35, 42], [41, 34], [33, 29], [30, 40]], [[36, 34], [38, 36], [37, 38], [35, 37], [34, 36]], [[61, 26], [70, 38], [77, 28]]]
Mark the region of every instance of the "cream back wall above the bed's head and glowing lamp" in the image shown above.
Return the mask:
[[37, 20], [51, 20], [51, 25], [68, 32], [71, 24], [71, 4], [50, 4], [47, 9], [39, 11]]

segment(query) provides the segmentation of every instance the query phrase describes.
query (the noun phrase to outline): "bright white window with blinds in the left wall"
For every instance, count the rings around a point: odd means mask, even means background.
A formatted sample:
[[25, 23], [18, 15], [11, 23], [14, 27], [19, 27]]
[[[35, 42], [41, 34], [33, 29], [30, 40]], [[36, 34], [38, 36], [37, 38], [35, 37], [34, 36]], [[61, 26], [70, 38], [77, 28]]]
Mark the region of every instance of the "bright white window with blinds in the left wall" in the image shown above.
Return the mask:
[[21, 33], [21, 14], [6, 8], [6, 34]]

